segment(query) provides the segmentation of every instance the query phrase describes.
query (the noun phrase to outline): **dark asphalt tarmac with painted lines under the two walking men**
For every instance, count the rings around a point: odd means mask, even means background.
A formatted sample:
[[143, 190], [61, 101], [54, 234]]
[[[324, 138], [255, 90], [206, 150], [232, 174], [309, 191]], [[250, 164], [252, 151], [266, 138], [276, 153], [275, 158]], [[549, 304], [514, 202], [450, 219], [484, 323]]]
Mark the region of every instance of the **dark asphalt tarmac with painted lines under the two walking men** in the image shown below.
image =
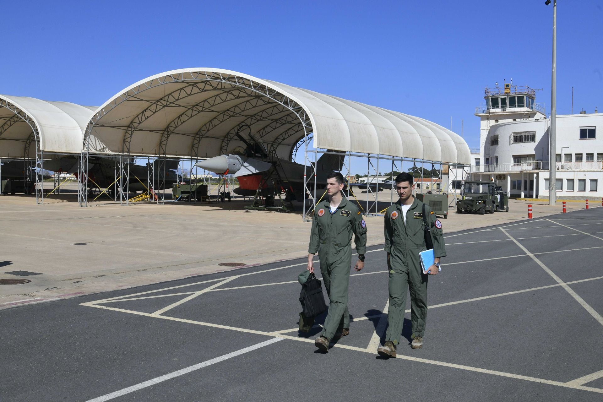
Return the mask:
[[1, 310], [0, 399], [603, 400], [603, 208], [443, 225], [421, 350], [407, 301], [398, 358], [376, 354], [381, 245], [352, 271], [350, 334], [327, 354], [320, 327], [297, 331], [303, 259]]

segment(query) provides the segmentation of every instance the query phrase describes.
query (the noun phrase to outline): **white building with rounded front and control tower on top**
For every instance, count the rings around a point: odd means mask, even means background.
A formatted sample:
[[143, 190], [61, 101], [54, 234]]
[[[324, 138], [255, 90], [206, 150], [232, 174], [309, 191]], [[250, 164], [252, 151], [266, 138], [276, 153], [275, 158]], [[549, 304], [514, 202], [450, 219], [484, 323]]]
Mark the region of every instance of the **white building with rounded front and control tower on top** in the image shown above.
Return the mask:
[[[549, 197], [549, 127], [535, 90], [505, 84], [485, 90], [476, 108], [479, 152], [472, 149], [465, 180], [495, 181], [511, 197]], [[557, 115], [556, 186], [559, 199], [603, 197], [603, 114]]]

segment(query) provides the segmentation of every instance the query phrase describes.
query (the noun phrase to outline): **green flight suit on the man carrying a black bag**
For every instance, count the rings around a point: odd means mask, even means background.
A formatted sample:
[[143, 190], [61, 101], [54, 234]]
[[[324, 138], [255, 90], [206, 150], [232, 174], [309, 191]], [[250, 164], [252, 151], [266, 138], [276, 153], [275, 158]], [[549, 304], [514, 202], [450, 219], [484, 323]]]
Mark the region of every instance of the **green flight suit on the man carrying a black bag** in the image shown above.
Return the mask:
[[[364, 254], [367, 246], [367, 224], [358, 207], [345, 197], [335, 211], [330, 213], [329, 200], [318, 203], [312, 219], [312, 232], [308, 253], [320, 258], [320, 273], [329, 295], [329, 313], [324, 320], [321, 336], [329, 339], [337, 330], [350, 327], [347, 294], [352, 266], [352, 233], [356, 252]], [[320, 250], [319, 250], [320, 247]]]

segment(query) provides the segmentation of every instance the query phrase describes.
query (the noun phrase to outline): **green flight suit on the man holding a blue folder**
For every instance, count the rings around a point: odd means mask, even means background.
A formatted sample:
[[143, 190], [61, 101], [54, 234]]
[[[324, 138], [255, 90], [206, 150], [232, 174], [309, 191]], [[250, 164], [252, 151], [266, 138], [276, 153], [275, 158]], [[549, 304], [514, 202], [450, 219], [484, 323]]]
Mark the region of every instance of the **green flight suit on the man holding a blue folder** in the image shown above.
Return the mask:
[[[434, 257], [445, 257], [442, 224], [425, 206], [427, 221], [431, 229], [434, 244]], [[427, 319], [427, 281], [429, 275], [423, 274], [418, 256], [426, 250], [425, 224], [423, 224], [423, 203], [414, 199], [406, 211], [406, 224], [402, 217], [402, 204], [391, 205], [385, 215], [385, 251], [390, 253], [390, 307], [388, 310], [388, 328], [385, 340], [397, 345], [402, 334], [404, 311], [406, 309], [406, 289], [410, 287], [412, 338], [423, 337]]]

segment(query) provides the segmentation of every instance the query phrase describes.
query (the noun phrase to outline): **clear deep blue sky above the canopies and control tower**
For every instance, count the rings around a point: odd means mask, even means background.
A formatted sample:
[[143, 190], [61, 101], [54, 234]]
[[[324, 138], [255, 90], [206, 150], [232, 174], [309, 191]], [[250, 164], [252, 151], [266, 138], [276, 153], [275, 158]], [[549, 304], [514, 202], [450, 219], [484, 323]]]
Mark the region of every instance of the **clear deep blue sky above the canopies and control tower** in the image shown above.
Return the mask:
[[[557, 113], [603, 111], [603, 0], [558, 1]], [[99, 105], [159, 72], [244, 72], [419, 116], [479, 146], [486, 86], [551, 102], [552, 5], [4, 1], [0, 93]]]

